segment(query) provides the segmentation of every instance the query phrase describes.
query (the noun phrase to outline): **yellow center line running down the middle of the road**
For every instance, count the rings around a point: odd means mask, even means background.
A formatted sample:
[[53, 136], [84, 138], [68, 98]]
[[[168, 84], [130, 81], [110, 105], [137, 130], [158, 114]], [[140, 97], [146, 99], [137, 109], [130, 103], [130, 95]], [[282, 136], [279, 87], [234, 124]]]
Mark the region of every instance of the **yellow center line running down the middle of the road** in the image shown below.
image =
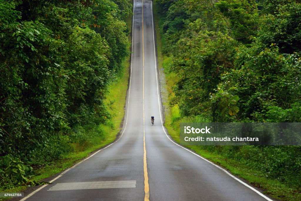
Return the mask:
[[142, 0], [142, 58], [143, 58], [143, 170], [144, 170], [144, 201], [150, 200], [150, 190], [148, 186], [148, 174], [146, 164], [146, 149], [145, 149], [145, 119], [144, 119], [144, 31], [143, 31], [143, 0]]

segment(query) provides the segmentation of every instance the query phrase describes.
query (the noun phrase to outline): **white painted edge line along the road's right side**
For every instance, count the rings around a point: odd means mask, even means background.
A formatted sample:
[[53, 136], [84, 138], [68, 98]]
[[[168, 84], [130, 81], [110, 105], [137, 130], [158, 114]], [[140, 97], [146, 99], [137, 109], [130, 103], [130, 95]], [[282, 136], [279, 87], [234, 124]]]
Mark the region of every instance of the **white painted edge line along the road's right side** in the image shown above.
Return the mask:
[[157, 80], [157, 95], [158, 95], [158, 103], [159, 103], [159, 111], [160, 111], [161, 125], [162, 125], [163, 131], [164, 131], [166, 137], [167, 137], [170, 141], [172, 141], [174, 144], [176, 144], [176, 145], [182, 147], [183, 149], [185, 149], [185, 150], [191, 152], [192, 154], [194, 154], [194, 155], [200, 157], [201, 159], [205, 160], [206, 162], [209, 162], [210, 164], [212, 164], [212, 165], [216, 166], [217, 168], [221, 169], [221, 170], [224, 171], [226, 174], [228, 174], [230, 177], [234, 178], [234, 179], [235, 179], [236, 181], [238, 181], [239, 183], [241, 183], [241, 184], [245, 185], [246, 187], [250, 188], [251, 190], [253, 190], [253, 191], [256, 192], [257, 194], [259, 194], [260, 196], [262, 196], [263, 198], [265, 198], [266, 200], [268, 200], [268, 201], [273, 201], [272, 199], [268, 198], [267, 196], [265, 196], [264, 194], [262, 194], [261, 192], [259, 192], [258, 190], [256, 190], [254, 187], [250, 186], [249, 184], [247, 184], [247, 183], [241, 181], [240, 179], [238, 179], [238, 178], [235, 177], [234, 175], [230, 174], [230, 173], [229, 173], [227, 170], [225, 170], [224, 168], [222, 168], [222, 167], [220, 167], [220, 166], [214, 164], [213, 162], [211, 162], [211, 161], [209, 161], [209, 160], [203, 158], [202, 156], [200, 156], [200, 155], [198, 155], [198, 154], [192, 152], [191, 150], [189, 150], [189, 149], [183, 147], [182, 145], [179, 145], [178, 143], [175, 143], [173, 140], [171, 140], [171, 139], [169, 138], [169, 136], [168, 136], [167, 133], [165, 132], [165, 129], [164, 129], [164, 126], [163, 126], [163, 121], [162, 121], [162, 116], [161, 116], [161, 109], [160, 109], [161, 106], [160, 106], [159, 87], [158, 87], [158, 76], [157, 76], [158, 69], [157, 69], [156, 48], [155, 48], [155, 36], [154, 36], [154, 20], [153, 20], [153, 15], [154, 15], [154, 13], [153, 13], [153, 2], [151, 2], [151, 11], [152, 11], [152, 24], [153, 24], [153, 39], [154, 39], [154, 52], [155, 52], [155, 68], [156, 68], [156, 80]]

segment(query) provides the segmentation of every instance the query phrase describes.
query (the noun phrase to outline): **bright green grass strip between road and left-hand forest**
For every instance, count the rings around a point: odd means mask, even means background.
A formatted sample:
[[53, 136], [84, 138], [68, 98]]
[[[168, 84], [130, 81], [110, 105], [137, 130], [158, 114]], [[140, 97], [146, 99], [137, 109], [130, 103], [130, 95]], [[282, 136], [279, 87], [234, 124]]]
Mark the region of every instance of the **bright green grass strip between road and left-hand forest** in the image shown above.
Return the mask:
[[[132, 25], [132, 15], [126, 21], [127, 25]], [[131, 41], [131, 36], [128, 36]], [[113, 142], [116, 139], [117, 134], [121, 130], [123, 117], [125, 114], [126, 93], [128, 89], [129, 79], [129, 61], [128, 56], [123, 61], [124, 70], [119, 74], [117, 80], [112, 82], [108, 87], [107, 98], [104, 100], [106, 103], [112, 118], [106, 124], [100, 124], [96, 127], [88, 125], [85, 129], [86, 135], [92, 136], [89, 140], [83, 143], [72, 143], [71, 147], [73, 151], [63, 155], [61, 159], [58, 159], [48, 165], [35, 167], [35, 176], [31, 177], [31, 181], [42, 181], [54, 174], [72, 167], [74, 164], [80, 162], [87, 157], [91, 152], [94, 152], [101, 147]], [[98, 133], [101, 133], [99, 135]], [[3, 189], [0, 192], [22, 192], [27, 187], [26, 185], [14, 187], [11, 189]], [[10, 198], [0, 198], [0, 200], [7, 200]]]

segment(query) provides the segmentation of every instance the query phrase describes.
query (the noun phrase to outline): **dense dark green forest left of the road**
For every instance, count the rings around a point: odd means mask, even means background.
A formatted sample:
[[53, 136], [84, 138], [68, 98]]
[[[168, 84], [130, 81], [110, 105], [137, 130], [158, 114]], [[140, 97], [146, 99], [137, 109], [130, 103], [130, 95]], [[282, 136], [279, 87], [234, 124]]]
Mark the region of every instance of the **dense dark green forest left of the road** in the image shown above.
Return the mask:
[[0, 0], [1, 189], [105, 138], [96, 126], [112, 126], [104, 99], [124, 71], [130, 16], [128, 0]]

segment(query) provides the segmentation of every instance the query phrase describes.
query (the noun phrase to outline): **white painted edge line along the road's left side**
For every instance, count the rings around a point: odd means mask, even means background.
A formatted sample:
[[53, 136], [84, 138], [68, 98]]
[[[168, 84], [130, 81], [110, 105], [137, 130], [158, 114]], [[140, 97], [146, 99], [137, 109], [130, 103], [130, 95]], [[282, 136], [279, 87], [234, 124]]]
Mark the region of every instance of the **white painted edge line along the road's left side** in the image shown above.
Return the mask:
[[[132, 52], [133, 52], [133, 31], [134, 31], [134, 4], [135, 4], [135, 0], [133, 0], [133, 20], [132, 20]], [[129, 115], [129, 99], [130, 99], [130, 91], [131, 91], [131, 80], [132, 80], [132, 63], [133, 63], [133, 54], [131, 52], [131, 71], [130, 71], [130, 83], [129, 83], [129, 97], [128, 97], [128, 102], [127, 102], [127, 110], [126, 110], [126, 124], [128, 122], [128, 115]], [[85, 160], [88, 160], [89, 158], [91, 158], [92, 156], [94, 156], [95, 154], [97, 154], [98, 152], [100, 152], [101, 150], [104, 150], [106, 148], [108, 148], [109, 146], [115, 144], [116, 142], [118, 142], [118, 140], [120, 140], [120, 138], [123, 136], [124, 131], [126, 130], [126, 125], [124, 127], [123, 132], [121, 133], [121, 136], [113, 143], [111, 143], [110, 145], [99, 149], [97, 152], [95, 152], [94, 154], [90, 155], [88, 158], [76, 163], [75, 165], [73, 165], [72, 167], [68, 168], [67, 170], [65, 170], [64, 172], [62, 172], [60, 175], [58, 175], [57, 177], [55, 177], [53, 180], [49, 181], [49, 183], [54, 182], [55, 180], [57, 180], [58, 178], [60, 178], [61, 176], [63, 176], [65, 173], [67, 173], [69, 170], [71, 170], [72, 168], [75, 168], [77, 165], [81, 164], [82, 162], [84, 162]], [[24, 201], [26, 199], [28, 199], [29, 197], [33, 196], [35, 193], [37, 193], [38, 191], [42, 190], [44, 187], [48, 186], [48, 184], [42, 185], [41, 187], [39, 187], [37, 190], [33, 191], [32, 193], [28, 194], [26, 197], [24, 197], [23, 199], [20, 199], [20, 201]]]

